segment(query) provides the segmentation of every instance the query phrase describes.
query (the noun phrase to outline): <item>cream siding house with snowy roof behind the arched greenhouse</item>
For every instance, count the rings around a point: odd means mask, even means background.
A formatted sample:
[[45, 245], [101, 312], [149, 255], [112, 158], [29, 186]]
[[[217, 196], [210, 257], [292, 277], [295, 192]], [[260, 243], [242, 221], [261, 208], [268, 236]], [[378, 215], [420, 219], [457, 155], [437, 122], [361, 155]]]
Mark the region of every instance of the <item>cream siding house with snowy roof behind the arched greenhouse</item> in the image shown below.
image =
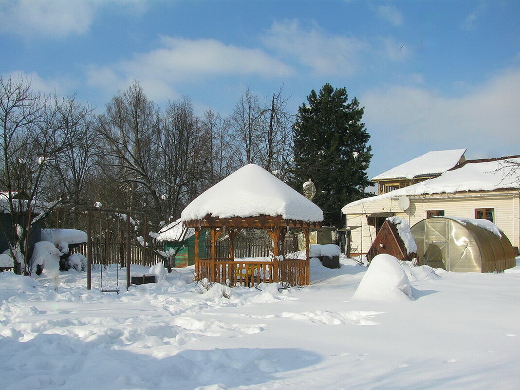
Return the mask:
[[[511, 163], [512, 170], [505, 168]], [[345, 205], [342, 212], [352, 229], [352, 253], [366, 253], [376, 229], [393, 215], [407, 219], [410, 226], [435, 215], [486, 218], [513, 246], [520, 246], [520, 182], [515, 174], [520, 166], [514, 164], [520, 164], [520, 156], [467, 160], [437, 177]], [[406, 209], [398, 205], [401, 197], [409, 201]]]

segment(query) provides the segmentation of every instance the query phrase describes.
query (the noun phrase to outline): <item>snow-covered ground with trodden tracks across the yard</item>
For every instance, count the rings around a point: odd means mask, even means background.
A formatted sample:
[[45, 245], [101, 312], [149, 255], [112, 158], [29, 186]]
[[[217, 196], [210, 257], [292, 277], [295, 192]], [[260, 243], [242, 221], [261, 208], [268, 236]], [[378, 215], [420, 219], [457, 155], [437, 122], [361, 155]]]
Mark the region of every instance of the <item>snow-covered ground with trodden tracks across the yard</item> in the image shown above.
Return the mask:
[[341, 263], [313, 260], [305, 288], [235, 288], [230, 298], [222, 287], [199, 293], [193, 267], [120, 295], [96, 290], [98, 270], [95, 289], [70, 271], [57, 292], [44, 275], [4, 272], [0, 387], [520, 388], [520, 266], [504, 274], [405, 266], [415, 300], [368, 301], [351, 299], [367, 268]]

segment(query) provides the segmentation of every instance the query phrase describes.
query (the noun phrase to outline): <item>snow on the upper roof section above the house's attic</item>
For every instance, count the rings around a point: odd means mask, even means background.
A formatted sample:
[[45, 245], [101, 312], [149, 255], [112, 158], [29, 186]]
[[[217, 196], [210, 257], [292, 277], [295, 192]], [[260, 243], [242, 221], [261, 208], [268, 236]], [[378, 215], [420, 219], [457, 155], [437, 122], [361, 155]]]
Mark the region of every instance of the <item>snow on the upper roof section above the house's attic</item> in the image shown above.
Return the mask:
[[466, 149], [452, 149], [428, 152], [383, 172], [372, 180], [413, 179], [418, 176], [438, 175], [456, 166], [465, 151]]

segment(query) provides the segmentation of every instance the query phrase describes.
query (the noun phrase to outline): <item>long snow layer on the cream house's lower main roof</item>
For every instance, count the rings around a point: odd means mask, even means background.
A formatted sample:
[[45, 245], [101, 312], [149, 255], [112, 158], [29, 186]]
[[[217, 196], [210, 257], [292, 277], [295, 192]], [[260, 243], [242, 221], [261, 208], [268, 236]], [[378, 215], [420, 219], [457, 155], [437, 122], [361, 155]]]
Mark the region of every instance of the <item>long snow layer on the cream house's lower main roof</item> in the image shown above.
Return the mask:
[[[514, 166], [510, 166], [513, 164]], [[516, 166], [515, 164], [518, 164]], [[508, 166], [510, 166], [508, 168]], [[511, 172], [511, 170], [515, 171]], [[455, 193], [459, 191], [492, 191], [504, 188], [520, 189], [520, 156], [488, 160], [467, 160], [440, 176], [420, 181], [408, 187], [383, 193], [375, 197], [360, 199], [343, 206], [348, 207], [371, 203], [385, 198], [420, 196], [433, 193]]]

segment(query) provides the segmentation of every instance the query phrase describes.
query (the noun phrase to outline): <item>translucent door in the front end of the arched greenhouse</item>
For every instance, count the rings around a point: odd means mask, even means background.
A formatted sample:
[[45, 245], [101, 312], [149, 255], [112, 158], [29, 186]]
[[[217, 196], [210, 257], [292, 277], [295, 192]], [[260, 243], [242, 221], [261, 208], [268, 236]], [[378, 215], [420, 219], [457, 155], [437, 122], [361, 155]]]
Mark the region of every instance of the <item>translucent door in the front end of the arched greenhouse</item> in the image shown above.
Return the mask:
[[448, 250], [449, 225], [446, 219], [431, 218], [424, 223], [424, 264], [450, 270]]

